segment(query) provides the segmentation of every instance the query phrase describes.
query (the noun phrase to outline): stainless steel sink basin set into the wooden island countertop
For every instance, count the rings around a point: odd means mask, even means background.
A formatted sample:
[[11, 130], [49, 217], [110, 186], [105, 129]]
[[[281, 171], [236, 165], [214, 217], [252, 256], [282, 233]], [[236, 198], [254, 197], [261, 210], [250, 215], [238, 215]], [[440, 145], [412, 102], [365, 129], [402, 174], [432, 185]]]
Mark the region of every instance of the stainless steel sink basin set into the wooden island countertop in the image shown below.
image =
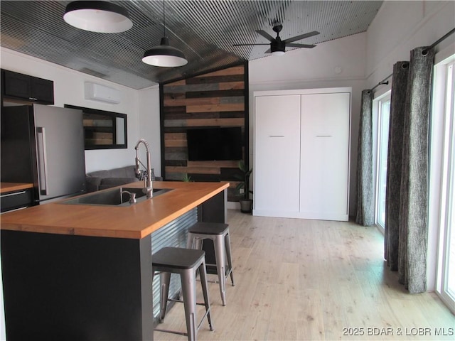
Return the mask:
[[[154, 189], [154, 197], [166, 193], [169, 190], [171, 189]], [[142, 188], [121, 187], [112, 188], [112, 190], [103, 190], [100, 192], [90, 193], [81, 197], [75, 197], [74, 199], [65, 200], [61, 203], [68, 205], [101, 205], [125, 207], [134, 205], [129, 202], [130, 195], [128, 193], [124, 193], [124, 191], [135, 193], [137, 202], [141, 202], [147, 199], [146, 194], [143, 192]]]

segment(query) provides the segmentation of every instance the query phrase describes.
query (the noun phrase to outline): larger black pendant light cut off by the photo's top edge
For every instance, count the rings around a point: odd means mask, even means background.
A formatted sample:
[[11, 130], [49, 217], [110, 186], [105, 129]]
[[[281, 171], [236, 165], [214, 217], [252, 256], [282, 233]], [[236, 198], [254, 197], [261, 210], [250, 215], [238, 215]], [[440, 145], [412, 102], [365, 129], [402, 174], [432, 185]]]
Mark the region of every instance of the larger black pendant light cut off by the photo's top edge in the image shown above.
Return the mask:
[[107, 1], [73, 1], [63, 19], [85, 31], [118, 33], [132, 28], [127, 9]]

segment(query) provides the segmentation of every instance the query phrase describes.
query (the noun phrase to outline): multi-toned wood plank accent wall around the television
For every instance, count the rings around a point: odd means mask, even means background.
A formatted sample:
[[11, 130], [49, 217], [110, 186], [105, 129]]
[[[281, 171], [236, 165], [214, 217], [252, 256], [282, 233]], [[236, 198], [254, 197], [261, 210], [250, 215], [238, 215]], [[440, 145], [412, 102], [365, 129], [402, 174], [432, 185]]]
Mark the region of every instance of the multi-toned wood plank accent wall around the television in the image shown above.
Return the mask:
[[193, 181], [230, 181], [228, 200], [239, 199], [234, 191], [238, 161], [188, 161], [186, 131], [208, 126], [240, 126], [245, 160], [248, 155], [247, 77], [245, 63], [160, 85], [164, 180], [183, 180], [188, 175]]

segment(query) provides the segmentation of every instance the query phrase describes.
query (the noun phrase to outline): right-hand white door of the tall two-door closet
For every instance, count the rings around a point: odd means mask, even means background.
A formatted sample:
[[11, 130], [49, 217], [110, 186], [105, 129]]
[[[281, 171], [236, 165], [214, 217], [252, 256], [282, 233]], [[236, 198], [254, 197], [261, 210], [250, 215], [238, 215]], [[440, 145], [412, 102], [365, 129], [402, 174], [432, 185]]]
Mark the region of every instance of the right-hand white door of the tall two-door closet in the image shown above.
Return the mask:
[[300, 212], [348, 220], [350, 93], [301, 96]]

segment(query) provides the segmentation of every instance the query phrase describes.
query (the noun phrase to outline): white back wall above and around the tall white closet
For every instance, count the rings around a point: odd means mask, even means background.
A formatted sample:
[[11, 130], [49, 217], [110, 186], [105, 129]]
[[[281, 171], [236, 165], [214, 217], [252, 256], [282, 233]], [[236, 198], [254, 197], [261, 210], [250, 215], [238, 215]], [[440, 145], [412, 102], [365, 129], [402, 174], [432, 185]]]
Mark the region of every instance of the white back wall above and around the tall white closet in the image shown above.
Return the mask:
[[[352, 87], [349, 214], [356, 212], [356, 172], [360, 95], [365, 89], [366, 33], [291, 50], [282, 56], [252, 60], [250, 77], [250, 162], [253, 138], [253, 92], [259, 90]], [[253, 165], [254, 166], [254, 165]]]

